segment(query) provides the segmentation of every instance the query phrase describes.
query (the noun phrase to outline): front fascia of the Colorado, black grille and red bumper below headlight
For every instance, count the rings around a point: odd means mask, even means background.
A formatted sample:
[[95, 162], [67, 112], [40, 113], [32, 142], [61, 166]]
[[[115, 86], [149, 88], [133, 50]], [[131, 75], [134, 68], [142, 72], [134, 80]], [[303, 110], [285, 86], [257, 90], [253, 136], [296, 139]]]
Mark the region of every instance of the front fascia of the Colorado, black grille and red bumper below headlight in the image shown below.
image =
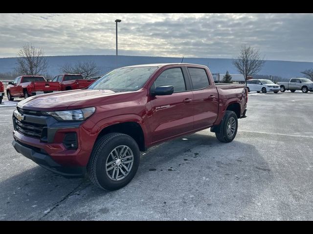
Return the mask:
[[[51, 116], [42, 116], [36, 111], [27, 111], [19, 108], [14, 111], [12, 118], [15, 142], [13, 145], [17, 152], [45, 168], [49, 167], [50, 169], [47, 169], [55, 172], [59, 171], [66, 174], [60, 167], [86, 167], [97, 137], [97, 135], [92, 134], [92, 129], [95, 127], [92, 121], [62, 122]], [[97, 129], [97, 127], [95, 128]], [[76, 136], [77, 144], [74, 148], [68, 148], [66, 144], [65, 140], [68, 134]], [[45, 157], [40, 156], [41, 160], [38, 160], [35, 157], [38, 154], [43, 154]], [[54, 161], [56, 165], [43, 163], [44, 159], [51, 161], [48, 158]]]

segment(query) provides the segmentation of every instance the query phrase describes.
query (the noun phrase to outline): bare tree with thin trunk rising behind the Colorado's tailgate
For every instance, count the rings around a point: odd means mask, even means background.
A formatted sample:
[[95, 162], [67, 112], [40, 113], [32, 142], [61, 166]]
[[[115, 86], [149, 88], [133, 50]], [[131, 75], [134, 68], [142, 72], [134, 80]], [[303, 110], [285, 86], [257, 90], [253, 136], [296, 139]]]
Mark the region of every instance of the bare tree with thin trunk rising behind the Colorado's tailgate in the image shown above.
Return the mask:
[[250, 45], [242, 45], [238, 57], [232, 59], [232, 64], [247, 81], [248, 76], [252, 76], [262, 69], [265, 60], [261, 58], [259, 50]]

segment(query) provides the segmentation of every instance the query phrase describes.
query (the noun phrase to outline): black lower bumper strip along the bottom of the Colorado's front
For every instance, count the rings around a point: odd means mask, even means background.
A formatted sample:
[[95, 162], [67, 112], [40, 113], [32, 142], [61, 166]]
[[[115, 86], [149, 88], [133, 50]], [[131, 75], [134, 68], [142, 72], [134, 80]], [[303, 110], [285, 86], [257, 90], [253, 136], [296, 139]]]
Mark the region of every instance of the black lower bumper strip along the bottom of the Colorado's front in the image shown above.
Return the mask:
[[25, 145], [17, 140], [13, 140], [12, 145], [18, 153], [33, 160], [45, 169], [57, 173], [61, 176], [82, 178], [86, 173], [85, 167], [65, 167], [58, 164], [42, 149]]

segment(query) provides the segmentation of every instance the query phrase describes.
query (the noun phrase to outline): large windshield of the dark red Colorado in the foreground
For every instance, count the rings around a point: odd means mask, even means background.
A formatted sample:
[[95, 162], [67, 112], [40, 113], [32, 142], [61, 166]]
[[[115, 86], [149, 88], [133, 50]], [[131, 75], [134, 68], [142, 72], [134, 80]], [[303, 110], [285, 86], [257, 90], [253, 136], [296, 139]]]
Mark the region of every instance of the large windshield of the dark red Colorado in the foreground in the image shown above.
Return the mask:
[[122, 67], [93, 82], [88, 89], [109, 89], [114, 92], [136, 91], [156, 71], [157, 67]]

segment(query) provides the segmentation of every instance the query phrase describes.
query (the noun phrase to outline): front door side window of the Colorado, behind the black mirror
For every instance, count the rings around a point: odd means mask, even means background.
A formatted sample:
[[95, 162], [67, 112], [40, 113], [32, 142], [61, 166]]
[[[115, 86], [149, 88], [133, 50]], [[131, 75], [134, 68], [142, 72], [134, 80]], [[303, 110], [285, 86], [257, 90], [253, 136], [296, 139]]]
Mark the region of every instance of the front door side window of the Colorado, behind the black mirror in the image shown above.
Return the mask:
[[155, 87], [173, 85], [174, 92], [186, 91], [185, 80], [181, 68], [171, 68], [165, 70], [156, 78]]

